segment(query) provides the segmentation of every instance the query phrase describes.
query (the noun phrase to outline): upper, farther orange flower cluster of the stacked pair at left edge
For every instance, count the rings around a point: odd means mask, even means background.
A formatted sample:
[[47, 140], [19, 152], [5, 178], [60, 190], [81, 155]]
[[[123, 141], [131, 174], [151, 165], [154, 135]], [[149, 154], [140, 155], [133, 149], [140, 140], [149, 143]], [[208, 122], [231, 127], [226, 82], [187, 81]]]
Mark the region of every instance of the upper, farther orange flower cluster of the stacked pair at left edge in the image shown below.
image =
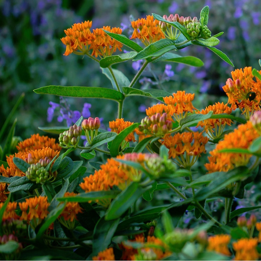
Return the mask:
[[43, 147], [52, 148], [55, 151], [60, 151], [59, 143], [55, 143], [55, 139], [48, 136], [40, 136], [38, 133], [31, 135], [29, 139], [19, 142], [16, 146], [19, 152], [27, 152], [30, 150], [39, 150]]

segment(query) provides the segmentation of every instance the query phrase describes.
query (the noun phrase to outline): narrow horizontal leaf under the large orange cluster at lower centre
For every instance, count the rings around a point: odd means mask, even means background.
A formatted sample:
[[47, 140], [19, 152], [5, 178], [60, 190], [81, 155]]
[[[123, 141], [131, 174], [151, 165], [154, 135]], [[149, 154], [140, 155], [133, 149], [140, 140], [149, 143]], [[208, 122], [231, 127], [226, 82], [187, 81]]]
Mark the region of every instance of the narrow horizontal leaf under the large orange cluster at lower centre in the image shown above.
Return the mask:
[[120, 193], [119, 190], [110, 191], [92, 191], [89, 193], [80, 193], [73, 197], [58, 197], [58, 201], [67, 200], [68, 202], [88, 202], [90, 200], [102, 200], [107, 198], [115, 198]]

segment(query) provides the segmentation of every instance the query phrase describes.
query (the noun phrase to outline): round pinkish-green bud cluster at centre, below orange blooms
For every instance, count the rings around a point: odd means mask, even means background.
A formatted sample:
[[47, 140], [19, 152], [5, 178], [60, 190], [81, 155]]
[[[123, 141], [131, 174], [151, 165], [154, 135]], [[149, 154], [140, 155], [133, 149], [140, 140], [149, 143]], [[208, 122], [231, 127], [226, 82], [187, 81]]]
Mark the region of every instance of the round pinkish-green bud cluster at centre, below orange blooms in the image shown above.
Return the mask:
[[172, 122], [167, 119], [167, 113], [156, 113], [151, 117], [146, 116], [139, 125], [139, 131], [144, 134], [152, 134], [162, 137], [172, 128]]

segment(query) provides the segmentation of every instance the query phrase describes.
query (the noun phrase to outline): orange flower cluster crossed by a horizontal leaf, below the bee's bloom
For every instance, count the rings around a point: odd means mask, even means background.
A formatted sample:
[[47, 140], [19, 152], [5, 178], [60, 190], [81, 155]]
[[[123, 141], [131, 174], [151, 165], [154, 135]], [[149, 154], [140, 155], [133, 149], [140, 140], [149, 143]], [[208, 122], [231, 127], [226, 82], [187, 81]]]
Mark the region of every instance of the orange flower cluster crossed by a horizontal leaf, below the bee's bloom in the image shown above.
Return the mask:
[[[210, 105], [208, 107], [206, 107], [205, 110], [201, 110], [201, 111], [196, 111], [196, 113], [199, 114], [208, 114], [210, 111], [213, 111], [213, 114], [222, 114], [222, 113], [227, 113], [227, 114], [231, 114], [233, 108], [232, 107], [228, 107], [227, 104], [224, 104], [223, 102], [220, 103], [215, 103], [214, 105]], [[204, 130], [206, 131], [206, 133], [209, 134], [209, 136], [212, 139], [218, 138], [220, 137], [220, 135], [222, 135], [222, 132], [225, 128], [226, 125], [231, 126], [232, 120], [231, 119], [226, 119], [226, 118], [222, 118], [222, 119], [206, 119], [204, 121], [201, 121], [197, 124], [198, 126], [201, 126], [204, 128]], [[215, 128], [215, 135], [213, 135], [212, 133], [214, 133], [213, 129]]]

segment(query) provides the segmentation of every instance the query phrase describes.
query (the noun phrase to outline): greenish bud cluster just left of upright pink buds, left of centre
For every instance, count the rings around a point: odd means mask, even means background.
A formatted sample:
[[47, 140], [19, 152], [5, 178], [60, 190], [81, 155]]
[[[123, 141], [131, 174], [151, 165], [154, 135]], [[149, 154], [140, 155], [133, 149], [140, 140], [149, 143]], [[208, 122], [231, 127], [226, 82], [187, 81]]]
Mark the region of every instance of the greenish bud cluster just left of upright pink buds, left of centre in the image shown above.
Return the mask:
[[60, 133], [59, 142], [63, 148], [76, 147], [81, 136], [81, 126], [74, 124], [68, 131]]

